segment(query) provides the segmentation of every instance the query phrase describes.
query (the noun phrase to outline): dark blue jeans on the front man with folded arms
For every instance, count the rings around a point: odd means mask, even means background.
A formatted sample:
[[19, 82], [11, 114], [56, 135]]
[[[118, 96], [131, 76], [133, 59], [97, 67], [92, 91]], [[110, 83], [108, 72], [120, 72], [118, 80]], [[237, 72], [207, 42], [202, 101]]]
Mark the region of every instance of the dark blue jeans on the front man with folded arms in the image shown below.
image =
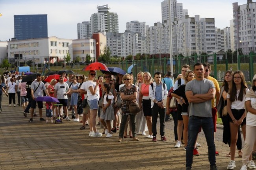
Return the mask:
[[186, 167], [191, 167], [193, 163], [193, 149], [197, 139], [199, 128], [202, 126], [208, 146], [208, 160], [210, 165], [215, 165], [215, 143], [213, 134], [212, 117], [190, 116], [188, 122], [188, 143], [186, 148]]

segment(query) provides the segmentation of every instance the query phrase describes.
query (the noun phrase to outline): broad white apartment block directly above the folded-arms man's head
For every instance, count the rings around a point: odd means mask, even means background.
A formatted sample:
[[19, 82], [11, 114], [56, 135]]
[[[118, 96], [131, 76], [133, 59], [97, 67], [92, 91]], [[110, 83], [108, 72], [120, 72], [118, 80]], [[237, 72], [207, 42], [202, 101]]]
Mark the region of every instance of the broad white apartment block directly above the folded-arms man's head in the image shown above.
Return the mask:
[[215, 50], [215, 19], [184, 16], [176, 24], [178, 53], [190, 56]]

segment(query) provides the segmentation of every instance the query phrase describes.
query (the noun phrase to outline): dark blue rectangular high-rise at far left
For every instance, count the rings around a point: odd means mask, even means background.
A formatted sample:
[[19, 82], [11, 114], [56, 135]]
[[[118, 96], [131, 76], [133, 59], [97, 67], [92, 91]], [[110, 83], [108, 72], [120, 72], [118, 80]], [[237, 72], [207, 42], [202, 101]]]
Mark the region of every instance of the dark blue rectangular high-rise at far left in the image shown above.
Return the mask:
[[14, 37], [17, 40], [48, 37], [47, 15], [14, 15]]

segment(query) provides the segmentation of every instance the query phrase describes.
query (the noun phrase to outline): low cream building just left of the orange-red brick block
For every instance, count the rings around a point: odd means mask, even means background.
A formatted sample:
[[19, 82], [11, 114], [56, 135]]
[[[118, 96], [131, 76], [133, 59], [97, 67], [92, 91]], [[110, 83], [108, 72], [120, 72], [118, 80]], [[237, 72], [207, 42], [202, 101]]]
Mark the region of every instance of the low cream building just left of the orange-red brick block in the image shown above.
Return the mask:
[[90, 55], [91, 60], [95, 61], [96, 57], [96, 40], [95, 39], [78, 39], [73, 40], [73, 60], [80, 57], [80, 62], [85, 62], [86, 55]]

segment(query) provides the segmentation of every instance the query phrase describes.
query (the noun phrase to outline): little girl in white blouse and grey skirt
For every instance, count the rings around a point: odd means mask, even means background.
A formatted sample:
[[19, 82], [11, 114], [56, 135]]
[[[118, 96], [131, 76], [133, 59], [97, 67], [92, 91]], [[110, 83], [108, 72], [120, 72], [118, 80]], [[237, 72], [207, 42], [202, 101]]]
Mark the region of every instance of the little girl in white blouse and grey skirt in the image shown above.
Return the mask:
[[[104, 84], [102, 86], [102, 90], [103, 90], [104, 94], [102, 95], [103, 106], [102, 106], [102, 109], [100, 112], [100, 122], [105, 127], [106, 137], [112, 137], [110, 121], [115, 119], [114, 109], [112, 106], [114, 96], [110, 92], [110, 89], [111, 88], [110, 88], [109, 84]], [[106, 123], [105, 123], [105, 121], [106, 121]]]

